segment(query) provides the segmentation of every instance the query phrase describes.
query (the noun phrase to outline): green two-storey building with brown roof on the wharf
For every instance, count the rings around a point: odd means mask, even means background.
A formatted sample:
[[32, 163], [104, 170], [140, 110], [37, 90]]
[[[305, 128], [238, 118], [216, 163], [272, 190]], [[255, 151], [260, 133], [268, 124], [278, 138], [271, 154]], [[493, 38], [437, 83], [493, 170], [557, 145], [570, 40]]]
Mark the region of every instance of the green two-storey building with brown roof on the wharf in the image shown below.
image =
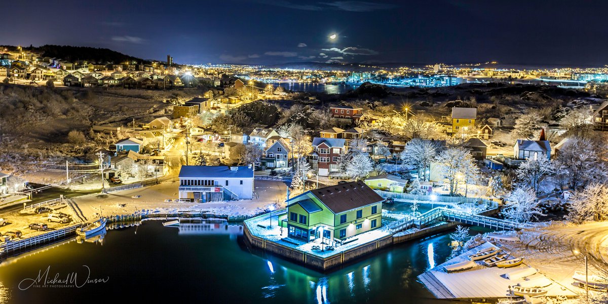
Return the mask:
[[297, 240], [344, 240], [382, 226], [382, 201], [362, 181], [310, 190], [288, 200], [280, 224]]

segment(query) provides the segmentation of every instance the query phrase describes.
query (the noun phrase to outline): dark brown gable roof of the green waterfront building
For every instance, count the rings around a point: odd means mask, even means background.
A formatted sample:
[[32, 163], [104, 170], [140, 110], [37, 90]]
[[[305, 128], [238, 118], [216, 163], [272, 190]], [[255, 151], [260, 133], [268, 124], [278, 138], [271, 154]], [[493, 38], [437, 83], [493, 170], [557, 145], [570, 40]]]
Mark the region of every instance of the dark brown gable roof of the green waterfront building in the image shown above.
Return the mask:
[[342, 213], [384, 201], [382, 196], [379, 196], [362, 181], [319, 188], [307, 193], [319, 199], [333, 213]]

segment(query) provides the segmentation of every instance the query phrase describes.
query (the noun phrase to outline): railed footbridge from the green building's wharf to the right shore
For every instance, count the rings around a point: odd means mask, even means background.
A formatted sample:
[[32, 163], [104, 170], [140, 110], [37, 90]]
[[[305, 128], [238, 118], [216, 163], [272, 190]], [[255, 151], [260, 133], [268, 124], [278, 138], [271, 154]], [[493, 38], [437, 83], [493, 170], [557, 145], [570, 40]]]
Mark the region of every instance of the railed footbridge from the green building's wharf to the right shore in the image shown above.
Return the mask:
[[516, 230], [522, 228], [523, 224], [505, 219], [491, 218], [489, 216], [470, 214], [457, 210], [437, 207], [418, 216], [406, 216], [385, 226], [390, 233], [416, 227], [418, 229], [428, 227], [434, 221], [452, 221], [472, 226], [486, 227], [496, 230]]

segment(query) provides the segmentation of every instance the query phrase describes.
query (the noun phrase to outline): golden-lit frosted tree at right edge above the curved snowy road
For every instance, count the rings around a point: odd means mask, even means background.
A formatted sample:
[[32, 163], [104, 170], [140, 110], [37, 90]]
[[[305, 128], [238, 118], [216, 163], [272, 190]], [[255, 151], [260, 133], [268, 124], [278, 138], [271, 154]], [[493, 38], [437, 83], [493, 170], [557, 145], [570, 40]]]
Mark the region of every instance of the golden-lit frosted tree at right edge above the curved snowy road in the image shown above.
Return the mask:
[[608, 220], [608, 187], [604, 184], [590, 184], [568, 199], [570, 219], [582, 221]]

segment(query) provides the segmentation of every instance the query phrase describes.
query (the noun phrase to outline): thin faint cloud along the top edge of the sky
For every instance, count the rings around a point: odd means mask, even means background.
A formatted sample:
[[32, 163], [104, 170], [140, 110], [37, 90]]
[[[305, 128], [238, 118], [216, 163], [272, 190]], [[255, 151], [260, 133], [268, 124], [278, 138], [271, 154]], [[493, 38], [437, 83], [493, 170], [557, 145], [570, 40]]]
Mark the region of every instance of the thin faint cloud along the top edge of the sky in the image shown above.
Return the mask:
[[396, 7], [393, 4], [375, 3], [367, 1], [333, 1], [318, 2], [317, 4], [299, 4], [285, 0], [258, 0], [260, 3], [286, 7], [294, 10], [344, 10], [346, 12], [371, 12], [374, 10], [388, 10]]

